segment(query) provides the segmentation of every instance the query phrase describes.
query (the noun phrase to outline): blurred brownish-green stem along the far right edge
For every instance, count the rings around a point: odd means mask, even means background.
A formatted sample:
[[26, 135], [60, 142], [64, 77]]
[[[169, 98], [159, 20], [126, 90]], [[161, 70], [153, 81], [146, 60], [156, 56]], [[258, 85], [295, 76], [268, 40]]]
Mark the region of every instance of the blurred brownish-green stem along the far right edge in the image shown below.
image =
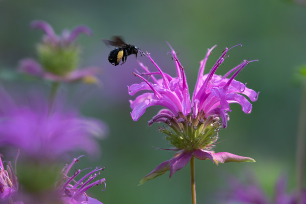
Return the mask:
[[297, 127], [297, 148], [296, 148], [296, 186], [297, 204], [303, 201], [303, 183], [305, 172], [305, 124], [306, 124], [306, 82], [302, 83], [301, 105]]

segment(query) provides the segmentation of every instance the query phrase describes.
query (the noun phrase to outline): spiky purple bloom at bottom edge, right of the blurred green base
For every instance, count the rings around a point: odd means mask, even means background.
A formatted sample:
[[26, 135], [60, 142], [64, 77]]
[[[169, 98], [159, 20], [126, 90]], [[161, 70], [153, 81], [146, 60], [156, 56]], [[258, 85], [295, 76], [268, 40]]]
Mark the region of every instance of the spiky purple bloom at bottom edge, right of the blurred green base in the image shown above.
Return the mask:
[[[72, 163], [70, 165], [67, 164], [62, 170], [63, 177], [57, 185], [57, 192], [60, 200], [63, 204], [103, 204], [97, 199], [87, 196], [86, 191], [95, 185], [104, 184], [106, 187], [105, 179], [94, 181], [95, 177], [100, 174], [100, 171], [103, 170], [104, 167], [99, 166], [94, 168], [79, 180], [76, 180], [76, 177], [83, 170], [78, 169], [72, 176], [68, 176], [68, 172], [72, 165], [78, 162], [79, 158], [73, 159]], [[105, 190], [105, 187], [102, 191]]]

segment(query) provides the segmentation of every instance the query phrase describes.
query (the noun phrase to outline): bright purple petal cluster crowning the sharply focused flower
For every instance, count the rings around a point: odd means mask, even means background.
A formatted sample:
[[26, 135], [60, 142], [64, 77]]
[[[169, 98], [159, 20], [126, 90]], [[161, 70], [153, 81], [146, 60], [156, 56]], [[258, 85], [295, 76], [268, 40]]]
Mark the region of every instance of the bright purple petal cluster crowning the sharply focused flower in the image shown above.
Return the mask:
[[[168, 111], [164, 110], [157, 114], [149, 121], [149, 125], [154, 122], [167, 121], [167, 119], [170, 119], [172, 116], [177, 117], [179, 113], [183, 113], [184, 116], [187, 116], [192, 112], [192, 117], [194, 119], [199, 113], [205, 114], [206, 118], [210, 116], [220, 117], [222, 118], [223, 128], [225, 128], [226, 121], [228, 120], [227, 112], [231, 111], [230, 104], [232, 103], [240, 104], [244, 113], [250, 113], [252, 105], [245, 96], [247, 96], [251, 101], [256, 101], [258, 93], [247, 88], [246, 84], [234, 80], [234, 78], [247, 64], [256, 60], [244, 60], [241, 64], [231, 69], [223, 76], [217, 75], [215, 74], [215, 71], [223, 63], [224, 59], [228, 57], [226, 54], [229, 49], [226, 47], [210, 72], [203, 75], [208, 57], [211, 55], [211, 52], [215, 47], [216, 45], [211, 49], [208, 49], [206, 57], [200, 62], [192, 101], [190, 100], [184, 68], [177, 59], [172, 47], [171, 54], [176, 66], [175, 78], [172, 78], [169, 74], [163, 72], [150, 57], [150, 54], [148, 54], [148, 58], [156, 66], [158, 71], [149, 72], [142, 63], [139, 63], [145, 70], [145, 73], [142, 73], [141, 75], [137, 73], [134, 74], [141, 78], [143, 82], [130, 86], [129, 94], [134, 95], [142, 90], [149, 90], [151, 92], [145, 92], [137, 96], [135, 100], [130, 100], [131, 108], [133, 109], [131, 113], [133, 120], [138, 120], [139, 117], [144, 114], [146, 108], [156, 105], [163, 106], [167, 108]], [[230, 74], [232, 74], [232, 76], [228, 78]], [[150, 75], [153, 83], [145, 80], [142, 75]], [[160, 75], [161, 79], [157, 80], [154, 75]]]

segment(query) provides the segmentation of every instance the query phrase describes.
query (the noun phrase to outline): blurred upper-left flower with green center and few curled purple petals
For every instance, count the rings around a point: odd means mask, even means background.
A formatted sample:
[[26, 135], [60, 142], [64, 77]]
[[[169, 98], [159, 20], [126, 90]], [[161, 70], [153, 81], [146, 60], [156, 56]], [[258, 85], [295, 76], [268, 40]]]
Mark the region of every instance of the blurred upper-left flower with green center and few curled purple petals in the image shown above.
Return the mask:
[[45, 35], [42, 43], [37, 45], [39, 62], [30, 58], [21, 60], [18, 68], [21, 72], [54, 82], [96, 82], [94, 75], [100, 72], [98, 67], [76, 69], [80, 59], [80, 47], [74, 40], [81, 33], [91, 35], [88, 27], [80, 25], [71, 32], [64, 30], [61, 36], [56, 35], [53, 28], [42, 20], [33, 21], [31, 27], [43, 30]]

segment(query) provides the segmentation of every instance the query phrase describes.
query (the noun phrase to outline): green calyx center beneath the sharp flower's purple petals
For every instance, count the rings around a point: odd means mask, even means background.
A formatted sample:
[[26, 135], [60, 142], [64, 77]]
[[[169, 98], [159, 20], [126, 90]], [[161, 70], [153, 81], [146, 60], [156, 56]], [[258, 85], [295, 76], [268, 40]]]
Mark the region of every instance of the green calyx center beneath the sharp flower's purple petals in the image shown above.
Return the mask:
[[178, 149], [211, 149], [218, 139], [218, 132], [222, 127], [219, 117], [206, 118], [203, 112], [196, 118], [190, 114], [172, 117], [166, 122], [169, 128], [159, 127], [159, 131], [166, 134], [165, 139]]

